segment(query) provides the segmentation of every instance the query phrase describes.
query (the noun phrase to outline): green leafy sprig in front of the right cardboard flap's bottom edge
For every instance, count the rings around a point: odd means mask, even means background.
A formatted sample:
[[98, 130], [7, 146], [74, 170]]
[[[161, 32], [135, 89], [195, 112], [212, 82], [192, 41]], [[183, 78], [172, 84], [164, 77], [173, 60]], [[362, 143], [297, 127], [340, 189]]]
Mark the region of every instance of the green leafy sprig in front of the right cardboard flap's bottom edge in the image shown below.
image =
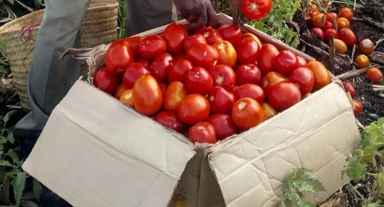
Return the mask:
[[293, 206], [297, 207], [316, 207], [310, 201], [302, 202], [300, 196], [304, 192], [317, 193], [325, 191], [323, 185], [313, 179], [311, 170], [305, 168], [295, 168], [291, 171], [288, 179], [283, 183], [282, 196], [278, 202], [279, 207], [285, 207], [285, 200], [291, 201]]

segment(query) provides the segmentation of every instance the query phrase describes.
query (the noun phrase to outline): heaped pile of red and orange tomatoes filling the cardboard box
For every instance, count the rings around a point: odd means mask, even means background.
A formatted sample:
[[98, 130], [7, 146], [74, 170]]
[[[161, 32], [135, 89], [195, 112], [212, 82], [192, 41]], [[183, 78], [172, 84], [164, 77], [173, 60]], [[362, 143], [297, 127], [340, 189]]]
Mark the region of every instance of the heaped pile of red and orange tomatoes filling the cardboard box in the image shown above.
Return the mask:
[[207, 143], [255, 127], [329, 83], [320, 62], [279, 51], [238, 26], [189, 36], [178, 23], [113, 42], [93, 80], [137, 112]]

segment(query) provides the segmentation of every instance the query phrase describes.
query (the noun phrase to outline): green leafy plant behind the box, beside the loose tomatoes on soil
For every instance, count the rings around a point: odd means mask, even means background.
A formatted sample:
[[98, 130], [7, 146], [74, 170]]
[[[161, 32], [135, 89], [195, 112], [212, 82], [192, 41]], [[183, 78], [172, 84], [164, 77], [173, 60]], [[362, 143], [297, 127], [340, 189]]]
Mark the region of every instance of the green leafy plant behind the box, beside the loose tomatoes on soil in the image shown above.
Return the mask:
[[287, 20], [293, 19], [300, 5], [301, 0], [273, 1], [269, 15], [260, 21], [251, 21], [251, 25], [296, 48], [300, 43], [299, 34], [288, 26]]

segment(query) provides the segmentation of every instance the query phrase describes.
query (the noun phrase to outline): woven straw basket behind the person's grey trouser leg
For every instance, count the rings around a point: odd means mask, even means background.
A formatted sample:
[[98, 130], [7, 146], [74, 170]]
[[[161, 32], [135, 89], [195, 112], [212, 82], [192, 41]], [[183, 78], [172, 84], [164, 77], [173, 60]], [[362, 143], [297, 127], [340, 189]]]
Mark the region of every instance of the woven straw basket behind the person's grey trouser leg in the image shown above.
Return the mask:
[[[81, 24], [82, 48], [109, 44], [116, 40], [118, 12], [119, 3], [114, 0], [91, 0]], [[43, 13], [44, 10], [35, 11], [0, 27], [0, 37], [6, 46], [6, 51], [2, 53], [6, 55], [11, 67], [21, 107], [27, 112], [30, 111], [27, 77]], [[81, 73], [84, 70], [85, 64], [81, 66]]]

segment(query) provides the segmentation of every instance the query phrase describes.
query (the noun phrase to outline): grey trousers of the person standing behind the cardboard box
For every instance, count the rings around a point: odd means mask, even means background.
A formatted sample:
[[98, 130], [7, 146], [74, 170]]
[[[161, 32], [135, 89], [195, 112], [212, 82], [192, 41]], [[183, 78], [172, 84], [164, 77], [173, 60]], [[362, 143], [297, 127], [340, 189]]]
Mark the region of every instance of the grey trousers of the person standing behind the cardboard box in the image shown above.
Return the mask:
[[[80, 48], [81, 19], [90, 0], [45, 0], [45, 12], [36, 38], [27, 90], [31, 112], [15, 127], [15, 135], [40, 133], [52, 110], [80, 76], [80, 62], [67, 48]], [[128, 36], [177, 20], [172, 0], [128, 0]], [[97, 27], [98, 25], [94, 25]]]

